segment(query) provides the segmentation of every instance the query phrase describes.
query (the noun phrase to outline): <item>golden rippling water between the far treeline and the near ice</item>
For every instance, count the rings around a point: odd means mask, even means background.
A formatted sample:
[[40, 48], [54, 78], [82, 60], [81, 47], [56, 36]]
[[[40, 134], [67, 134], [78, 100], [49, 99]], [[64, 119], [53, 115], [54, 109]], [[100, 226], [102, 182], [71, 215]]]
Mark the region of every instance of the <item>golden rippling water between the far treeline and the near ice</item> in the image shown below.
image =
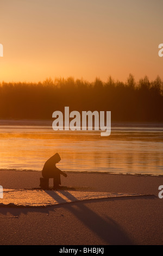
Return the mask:
[[161, 124], [112, 124], [111, 135], [100, 131], [53, 131], [52, 126], [0, 126], [0, 169], [42, 170], [58, 152], [63, 171], [163, 174]]

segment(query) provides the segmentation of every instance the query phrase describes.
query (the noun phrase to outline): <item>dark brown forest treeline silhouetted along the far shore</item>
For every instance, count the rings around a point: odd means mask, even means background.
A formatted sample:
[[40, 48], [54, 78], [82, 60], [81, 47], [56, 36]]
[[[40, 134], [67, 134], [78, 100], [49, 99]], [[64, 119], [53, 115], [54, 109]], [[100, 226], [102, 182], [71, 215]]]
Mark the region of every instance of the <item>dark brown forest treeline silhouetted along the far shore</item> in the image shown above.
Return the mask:
[[39, 83], [5, 83], [0, 86], [1, 119], [52, 119], [54, 111], [111, 111], [115, 121], [163, 121], [163, 82], [145, 76], [136, 82], [93, 83], [69, 77]]

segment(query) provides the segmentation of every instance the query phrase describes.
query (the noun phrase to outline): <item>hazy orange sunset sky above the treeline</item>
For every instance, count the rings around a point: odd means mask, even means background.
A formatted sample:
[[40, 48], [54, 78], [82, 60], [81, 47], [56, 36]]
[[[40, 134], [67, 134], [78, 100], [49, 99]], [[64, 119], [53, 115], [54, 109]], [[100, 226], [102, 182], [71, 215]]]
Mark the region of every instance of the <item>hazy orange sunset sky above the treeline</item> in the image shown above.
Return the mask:
[[0, 0], [0, 82], [163, 79], [162, 0]]

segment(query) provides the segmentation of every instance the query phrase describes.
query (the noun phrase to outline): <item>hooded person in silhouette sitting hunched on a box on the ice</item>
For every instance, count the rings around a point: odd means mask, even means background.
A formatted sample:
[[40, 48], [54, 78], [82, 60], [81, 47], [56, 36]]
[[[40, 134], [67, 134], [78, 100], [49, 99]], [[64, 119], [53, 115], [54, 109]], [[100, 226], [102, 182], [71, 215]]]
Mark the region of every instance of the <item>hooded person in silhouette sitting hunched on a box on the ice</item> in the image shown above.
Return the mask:
[[62, 172], [60, 169], [58, 169], [55, 164], [58, 163], [61, 160], [60, 155], [56, 153], [54, 156], [49, 158], [42, 169], [42, 176], [43, 178], [49, 179], [53, 178], [53, 188], [57, 189], [61, 185], [60, 181], [60, 175], [64, 175], [67, 177], [67, 174]]

